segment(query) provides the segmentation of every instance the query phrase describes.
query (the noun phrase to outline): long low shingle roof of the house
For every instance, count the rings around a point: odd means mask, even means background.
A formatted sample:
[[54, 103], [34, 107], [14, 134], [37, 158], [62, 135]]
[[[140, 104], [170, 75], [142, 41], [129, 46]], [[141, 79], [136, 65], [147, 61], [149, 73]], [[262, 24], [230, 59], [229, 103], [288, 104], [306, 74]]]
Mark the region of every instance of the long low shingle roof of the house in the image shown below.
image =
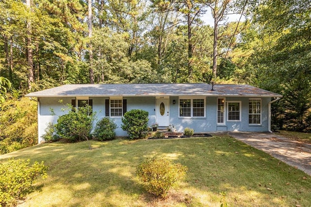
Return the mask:
[[29, 93], [27, 97], [76, 96], [260, 96], [282, 97], [279, 94], [249, 85], [208, 84], [73, 84]]

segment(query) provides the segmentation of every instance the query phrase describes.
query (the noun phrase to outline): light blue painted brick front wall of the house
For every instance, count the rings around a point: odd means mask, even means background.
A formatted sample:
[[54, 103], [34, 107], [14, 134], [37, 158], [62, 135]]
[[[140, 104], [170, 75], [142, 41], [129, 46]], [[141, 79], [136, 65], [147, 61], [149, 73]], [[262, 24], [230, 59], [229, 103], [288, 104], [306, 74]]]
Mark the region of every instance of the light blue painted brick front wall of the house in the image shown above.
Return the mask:
[[[176, 131], [183, 132], [186, 127], [194, 129], [195, 132], [215, 132], [215, 131], [248, 131], [248, 132], [265, 132], [268, 131], [268, 104], [271, 98], [265, 97], [222, 97], [225, 102], [239, 101], [242, 104], [241, 121], [227, 121], [224, 125], [217, 124], [217, 98], [209, 96], [200, 96], [205, 99], [205, 117], [179, 117], [179, 97], [169, 97], [169, 124], [174, 125]], [[249, 99], [259, 98], [261, 100], [261, 124], [251, 125], [248, 123]], [[38, 136], [39, 143], [42, 141], [41, 136], [49, 122], [56, 123], [59, 116], [68, 113], [63, 109], [66, 104], [71, 104], [75, 97], [41, 97], [39, 98], [38, 107]], [[86, 98], [87, 99], [87, 98]], [[88, 97], [93, 100], [93, 111], [96, 112], [97, 120], [105, 117], [105, 100], [109, 97]], [[127, 111], [131, 109], [142, 109], [148, 111], [149, 122], [156, 122], [156, 98], [155, 96], [142, 97], [123, 97], [127, 100]], [[62, 100], [60, 103], [59, 100]], [[175, 104], [173, 104], [175, 101]], [[52, 115], [52, 111], [54, 115]], [[226, 113], [226, 111], [225, 111]], [[126, 132], [121, 129], [121, 117], [112, 117], [118, 125], [116, 130], [117, 136], [126, 136]], [[94, 123], [95, 126], [96, 122]]]

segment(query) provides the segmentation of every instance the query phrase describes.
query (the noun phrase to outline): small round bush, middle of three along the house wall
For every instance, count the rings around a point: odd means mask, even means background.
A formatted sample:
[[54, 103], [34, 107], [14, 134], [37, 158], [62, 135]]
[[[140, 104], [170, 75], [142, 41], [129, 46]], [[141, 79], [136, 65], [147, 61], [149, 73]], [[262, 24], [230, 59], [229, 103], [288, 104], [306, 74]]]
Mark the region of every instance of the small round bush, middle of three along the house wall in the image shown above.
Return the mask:
[[112, 140], [116, 137], [117, 124], [109, 117], [104, 117], [96, 123], [93, 135], [100, 141]]

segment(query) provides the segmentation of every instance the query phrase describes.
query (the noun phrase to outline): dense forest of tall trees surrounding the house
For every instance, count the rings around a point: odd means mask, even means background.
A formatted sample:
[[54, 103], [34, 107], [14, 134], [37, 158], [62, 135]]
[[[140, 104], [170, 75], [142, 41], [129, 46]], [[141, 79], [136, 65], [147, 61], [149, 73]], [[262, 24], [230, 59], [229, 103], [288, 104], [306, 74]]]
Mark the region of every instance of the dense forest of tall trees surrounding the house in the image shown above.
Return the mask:
[[283, 95], [274, 130], [310, 132], [310, 62], [310, 0], [2, 0], [0, 154], [36, 144], [23, 95], [64, 84], [249, 84]]

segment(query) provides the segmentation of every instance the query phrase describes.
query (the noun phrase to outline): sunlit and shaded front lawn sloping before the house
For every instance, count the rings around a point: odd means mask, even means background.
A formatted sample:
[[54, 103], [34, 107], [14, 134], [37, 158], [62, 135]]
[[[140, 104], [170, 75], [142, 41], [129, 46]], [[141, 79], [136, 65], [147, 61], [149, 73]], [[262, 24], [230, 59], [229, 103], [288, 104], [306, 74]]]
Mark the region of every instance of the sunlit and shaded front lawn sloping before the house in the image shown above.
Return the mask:
[[[20, 206], [211, 206], [222, 191], [229, 206], [309, 206], [311, 176], [228, 136], [49, 143], [0, 156], [30, 158], [50, 166]], [[167, 199], [142, 188], [136, 166], [167, 157], [189, 168]]]

